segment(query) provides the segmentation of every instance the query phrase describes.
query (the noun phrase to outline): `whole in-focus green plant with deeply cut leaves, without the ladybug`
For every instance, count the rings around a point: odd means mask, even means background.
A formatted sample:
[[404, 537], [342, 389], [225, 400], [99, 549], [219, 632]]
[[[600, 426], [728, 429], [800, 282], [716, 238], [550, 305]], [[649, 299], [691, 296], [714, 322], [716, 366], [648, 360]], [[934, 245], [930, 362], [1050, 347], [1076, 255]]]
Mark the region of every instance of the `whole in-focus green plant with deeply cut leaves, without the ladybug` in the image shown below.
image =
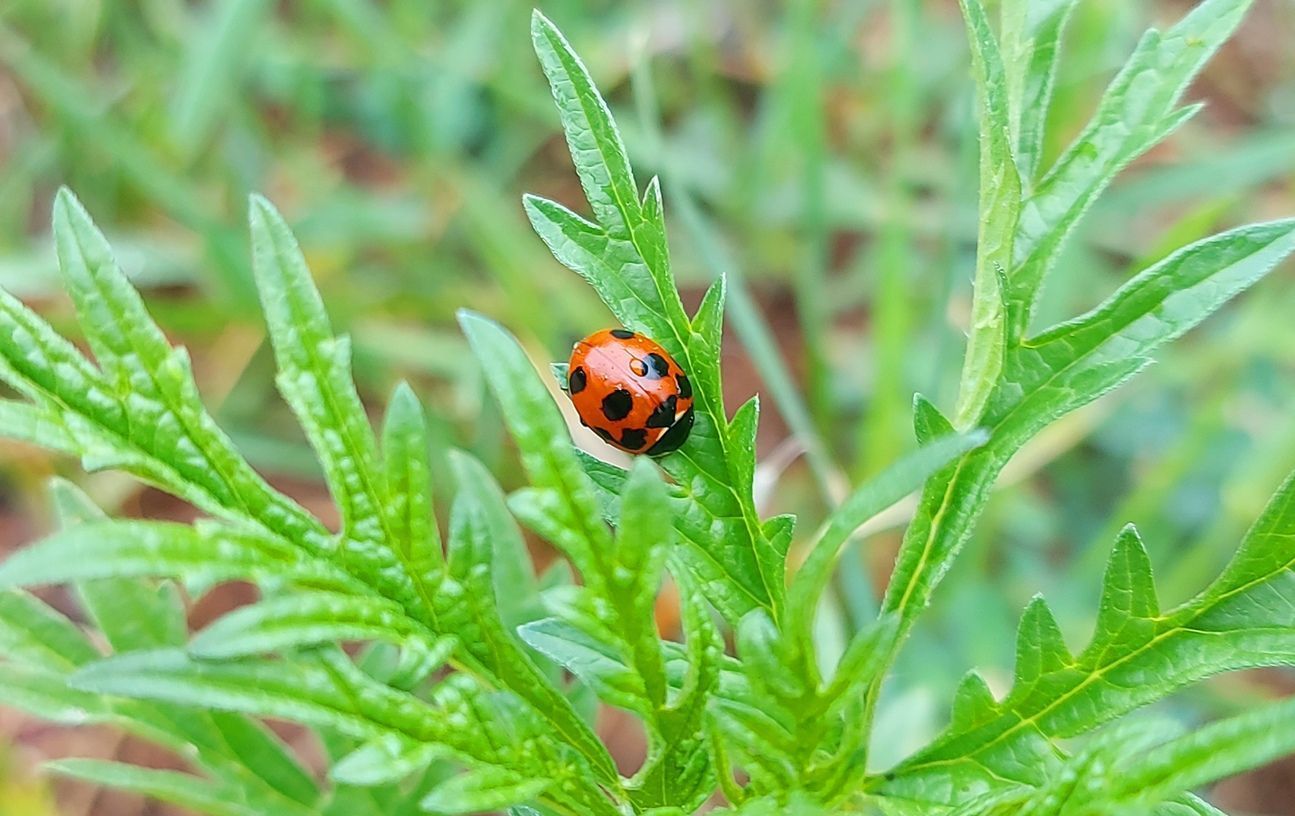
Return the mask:
[[[517, 341], [464, 313], [530, 486], [505, 496], [453, 452], [443, 545], [417, 398], [398, 387], [373, 431], [347, 339], [330, 329], [286, 224], [254, 198], [253, 267], [277, 383], [337, 503], [333, 532], [242, 460], [203, 409], [184, 351], [153, 324], [80, 205], [60, 193], [60, 268], [95, 361], [0, 295], [0, 376], [25, 398], [0, 403], [0, 427], [79, 456], [87, 470], [131, 473], [206, 518], [107, 519], [57, 482], [62, 530], [0, 566], [0, 585], [74, 584], [113, 654], [10, 589], [0, 595], [0, 699], [176, 750], [199, 776], [91, 760], [53, 769], [218, 815], [667, 816], [716, 791], [749, 815], [1217, 812], [1190, 791], [1295, 751], [1292, 703], [1188, 734], [1146, 718], [1107, 724], [1210, 675], [1295, 663], [1295, 479], [1224, 572], [1168, 611], [1137, 532], [1125, 530], [1092, 644], [1072, 654], [1036, 600], [1005, 697], [969, 675], [939, 738], [894, 768], [869, 765], [887, 670], [1008, 460], [1295, 250], [1295, 220], [1234, 229], [1147, 267], [1087, 315], [1031, 333], [1067, 236], [1124, 164], [1190, 115], [1177, 104], [1182, 89], [1248, 3], [1207, 0], [1164, 35], [1149, 34], [1089, 128], [1041, 174], [1072, 6], [1005, 0], [995, 35], [979, 0], [963, 1], [982, 97], [982, 203], [954, 417], [918, 398], [921, 447], [848, 495], [808, 536], [790, 580], [795, 519], [761, 519], [752, 497], [759, 404], [729, 418], [720, 396], [725, 281], [685, 312], [660, 185], [640, 193], [588, 73], [539, 14], [535, 47], [593, 220], [535, 197], [526, 211], [623, 325], [689, 370], [697, 424], [659, 470], [579, 453]], [[837, 560], [864, 522], [916, 490], [875, 623], [829, 653], [815, 617]], [[514, 518], [557, 547], [579, 583], [563, 569], [536, 578]], [[682, 642], [660, 640], [653, 619], [666, 574], [680, 589]], [[185, 596], [231, 579], [255, 582], [262, 600], [190, 639]], [[588, 693], [644, 725], [648, 759], [628, 778], [589, 724]], [[258, 718], [311, 727], [328, 781]]]

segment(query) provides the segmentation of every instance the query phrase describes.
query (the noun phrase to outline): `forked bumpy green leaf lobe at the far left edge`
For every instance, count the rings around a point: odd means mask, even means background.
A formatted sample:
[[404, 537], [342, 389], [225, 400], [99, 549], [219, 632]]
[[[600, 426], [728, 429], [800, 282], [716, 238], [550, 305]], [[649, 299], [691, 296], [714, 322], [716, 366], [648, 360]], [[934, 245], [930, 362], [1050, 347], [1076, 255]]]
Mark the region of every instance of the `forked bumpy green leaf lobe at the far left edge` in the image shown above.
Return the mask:
[[54, 202], [60, 269], [104, 372], [39, 317], [0, 297], [6, 377], [60, 421], [87, 468], [117, 466], [212, 514], [319, 545], [325, 531], [273, 491], [202, 407], [184, 350], [172, 348], [113, 259], [102, 233], [66, 189]]

